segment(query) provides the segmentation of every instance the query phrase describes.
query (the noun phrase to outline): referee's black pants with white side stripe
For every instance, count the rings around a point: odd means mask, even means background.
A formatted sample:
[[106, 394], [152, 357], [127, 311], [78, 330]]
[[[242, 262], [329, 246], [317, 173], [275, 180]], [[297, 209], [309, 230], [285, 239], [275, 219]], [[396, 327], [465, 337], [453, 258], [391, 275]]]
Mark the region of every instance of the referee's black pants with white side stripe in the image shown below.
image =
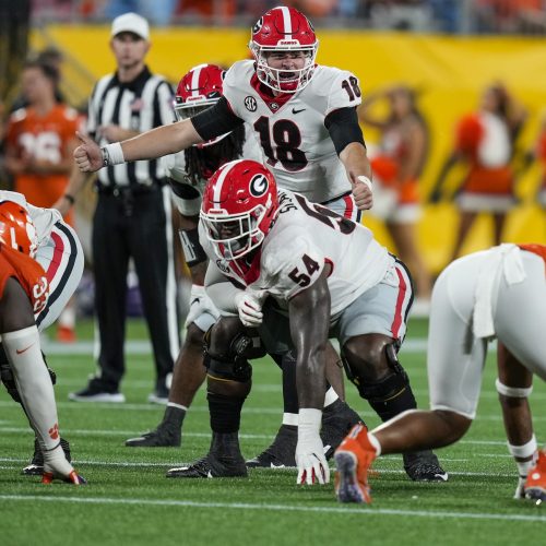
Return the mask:
[[152, 341], [156, 388], [180, 347], [168, 186], [151, 190], [99, 190], [93, 218], [95, 309], [100, 382], [119, 390], [126, 370], [127, 274], [132, 258]]

